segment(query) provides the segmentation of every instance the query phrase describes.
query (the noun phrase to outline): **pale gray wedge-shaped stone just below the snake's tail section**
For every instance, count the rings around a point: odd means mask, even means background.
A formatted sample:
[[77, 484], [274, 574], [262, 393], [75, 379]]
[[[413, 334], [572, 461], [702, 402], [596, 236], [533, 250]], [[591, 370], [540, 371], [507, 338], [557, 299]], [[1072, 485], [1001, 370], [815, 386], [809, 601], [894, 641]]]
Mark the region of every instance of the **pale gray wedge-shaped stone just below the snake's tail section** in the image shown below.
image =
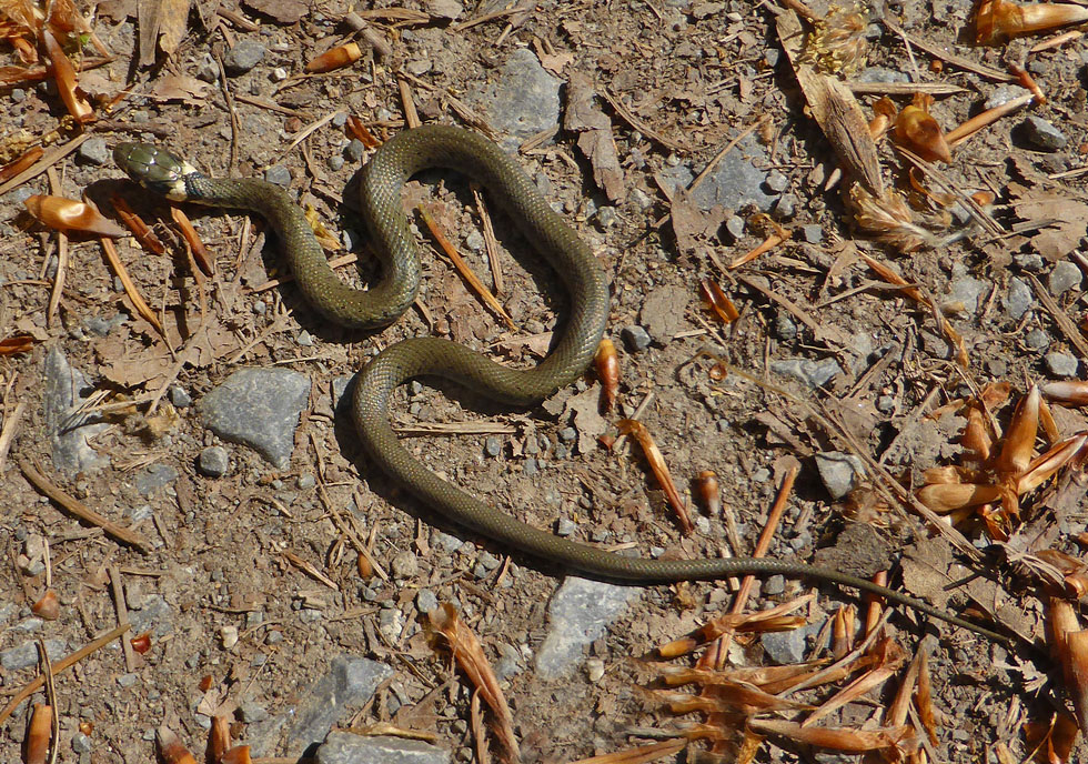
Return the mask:
[[590, 643], [642, 596], [634, 586], [615, 586], [570, 576], [548, 605], [548, 631], [536, 654], [536, 671], [543, 680], [560, 678], [577, 668]]

